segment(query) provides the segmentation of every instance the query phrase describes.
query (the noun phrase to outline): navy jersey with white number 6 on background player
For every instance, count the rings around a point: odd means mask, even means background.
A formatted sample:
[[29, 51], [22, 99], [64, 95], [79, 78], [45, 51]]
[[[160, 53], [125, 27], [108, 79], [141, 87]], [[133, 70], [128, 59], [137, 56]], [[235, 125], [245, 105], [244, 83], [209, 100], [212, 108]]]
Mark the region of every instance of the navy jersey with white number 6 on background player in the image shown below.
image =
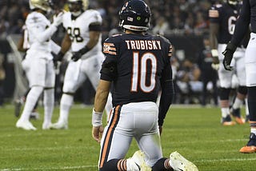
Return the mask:
[[235, 22], [237, 21], [239, 6], [231, 7], [227, 3], [214, 5], [209, 10], [210, 22], [219, 26], [218, 43], [226, 44], [230, 42], [234, 34]]

